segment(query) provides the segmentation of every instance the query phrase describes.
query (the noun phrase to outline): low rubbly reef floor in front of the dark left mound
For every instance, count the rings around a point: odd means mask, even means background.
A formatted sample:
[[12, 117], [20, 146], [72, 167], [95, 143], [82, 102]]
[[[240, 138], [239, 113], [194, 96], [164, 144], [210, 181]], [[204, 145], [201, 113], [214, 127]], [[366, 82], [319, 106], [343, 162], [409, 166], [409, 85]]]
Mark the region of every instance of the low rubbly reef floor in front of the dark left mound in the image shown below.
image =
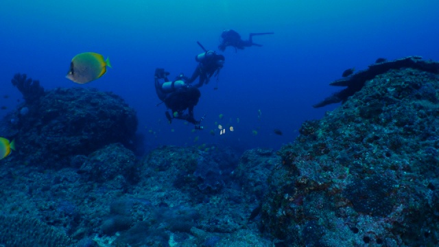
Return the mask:
[[217, 144], [157, 148], [137, 165], [118, 143], [62, 169], [12, 159], [0, 169], [0, 246], [273, 246], [251, 215], [280, 162]]

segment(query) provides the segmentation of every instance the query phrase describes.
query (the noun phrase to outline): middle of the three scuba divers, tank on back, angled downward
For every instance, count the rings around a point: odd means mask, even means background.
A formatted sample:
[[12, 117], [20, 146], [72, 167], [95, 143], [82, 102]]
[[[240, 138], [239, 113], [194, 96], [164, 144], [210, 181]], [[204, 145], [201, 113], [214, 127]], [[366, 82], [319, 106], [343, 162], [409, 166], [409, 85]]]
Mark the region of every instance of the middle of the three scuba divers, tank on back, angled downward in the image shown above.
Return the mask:
[[[202, 47], [200, 43], [198, 43], [198, 45]], [[204, 49], [204, 47], [202, 47], [202, 49]], [[191, 84], [200, 77], [198, 84], [195, 85], [196, 87], [199, 88], [203, 84], [208, 84], [214, 74], [218, 76], [219, 71], [224, 66], [224, 60], [224, 56], [217, 54], [215, 51], [204, 49], [202, 54], [195, 56], [195, 61], [198, 62], [198, 66], [195, 68], [195, 71], [193, 71], [191, 78], [187, 80], [187, 83]], [[215, 89], [217, 88], [215, 87]]]

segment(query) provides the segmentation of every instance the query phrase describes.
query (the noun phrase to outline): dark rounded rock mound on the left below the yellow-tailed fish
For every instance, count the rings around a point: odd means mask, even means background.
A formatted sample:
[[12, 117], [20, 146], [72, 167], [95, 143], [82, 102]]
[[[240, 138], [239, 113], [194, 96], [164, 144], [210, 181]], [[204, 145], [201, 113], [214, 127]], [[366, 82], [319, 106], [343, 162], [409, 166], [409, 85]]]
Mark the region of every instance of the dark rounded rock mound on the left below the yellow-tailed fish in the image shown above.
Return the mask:
[[5, 133], [16, 140], [14, 157], [58, 168], [111, 143], [130, 148], [138, 122], [134, 109], [118, 95], [84, 88], [46, 91], [38, 104], [25, 102], [7, 117], [10, 130]]

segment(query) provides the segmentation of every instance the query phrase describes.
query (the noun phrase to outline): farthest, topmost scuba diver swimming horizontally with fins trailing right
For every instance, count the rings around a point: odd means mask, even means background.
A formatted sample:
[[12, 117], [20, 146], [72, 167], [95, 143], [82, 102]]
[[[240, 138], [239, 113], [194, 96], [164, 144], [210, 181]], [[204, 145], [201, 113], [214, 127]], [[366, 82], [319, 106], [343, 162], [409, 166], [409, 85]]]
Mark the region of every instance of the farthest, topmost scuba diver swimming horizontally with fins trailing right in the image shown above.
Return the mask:
[[241, 36], [235, 30], [224, 30], [221, 34], [222, 43], [218, 45], [218, 49], [225, 51], [226, 47], [231, 46], [235, 47], [236, 52], [237, 49], [244, 49], [245, 47], [251, 47], [253, 45], [261, 47], [262, 45], [253, 43], [253, 36], [265, 34], [274, 34], [274, 32], [250, 33], [248, 35], [248, 40], [242, 40]]

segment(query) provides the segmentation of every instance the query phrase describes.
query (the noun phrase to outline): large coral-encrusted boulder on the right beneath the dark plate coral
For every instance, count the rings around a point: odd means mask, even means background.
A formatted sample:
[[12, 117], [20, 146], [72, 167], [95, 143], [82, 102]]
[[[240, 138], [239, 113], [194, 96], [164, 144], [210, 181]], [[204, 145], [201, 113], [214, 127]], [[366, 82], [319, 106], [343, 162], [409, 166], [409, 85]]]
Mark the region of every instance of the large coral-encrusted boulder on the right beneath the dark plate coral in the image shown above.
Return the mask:
[[302, 124], [268, 178], [265, 230], [285, 246], [438, 246], [437, 65], [373, 65], [342, 106]]

